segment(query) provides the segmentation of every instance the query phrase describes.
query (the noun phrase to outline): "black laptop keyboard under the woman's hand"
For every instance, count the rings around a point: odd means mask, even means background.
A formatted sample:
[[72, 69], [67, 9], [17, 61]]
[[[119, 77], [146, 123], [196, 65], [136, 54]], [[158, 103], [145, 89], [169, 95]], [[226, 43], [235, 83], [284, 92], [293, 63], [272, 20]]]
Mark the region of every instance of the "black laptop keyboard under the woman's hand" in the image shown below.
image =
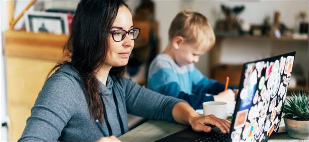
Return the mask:
[[214, 130], [213, 134], [211, 136], [207, 136], [207, 137], [199, 137], [194, 141], [201, 141], [201, 142], [205, 142], [205, 141], [227, 141], [227, 137], [229, 135], [228, 134], [223, 134], [220, 129]]

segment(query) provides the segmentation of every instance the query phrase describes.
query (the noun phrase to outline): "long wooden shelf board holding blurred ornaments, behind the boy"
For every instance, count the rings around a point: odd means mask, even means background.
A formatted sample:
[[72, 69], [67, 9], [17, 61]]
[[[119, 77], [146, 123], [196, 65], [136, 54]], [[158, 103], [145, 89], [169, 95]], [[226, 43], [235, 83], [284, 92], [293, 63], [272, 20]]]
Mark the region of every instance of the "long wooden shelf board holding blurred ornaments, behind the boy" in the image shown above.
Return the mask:
[[298, 41], [308, 42], [308, 39], [293, 39], [287, 36], [281, 36], [281, 38], [273, 38], [269, 36], [252, 36], [252, 35], [235, 35], [235, 36], [216, 36], [217, 39], [233, 38], [233, 39], [250, 39], [250, 40], [263, 40], [263, 41]]

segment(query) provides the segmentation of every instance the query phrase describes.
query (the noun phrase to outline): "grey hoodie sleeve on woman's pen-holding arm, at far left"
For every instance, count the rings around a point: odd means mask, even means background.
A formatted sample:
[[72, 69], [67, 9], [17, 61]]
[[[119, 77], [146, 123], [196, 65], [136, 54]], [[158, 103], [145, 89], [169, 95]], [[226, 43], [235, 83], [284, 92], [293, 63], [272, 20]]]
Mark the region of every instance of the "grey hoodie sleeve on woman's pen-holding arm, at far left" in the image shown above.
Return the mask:
[[40, 91], [19, 141], [57, 141], [77, 108], [74, 83], [52, 75]]

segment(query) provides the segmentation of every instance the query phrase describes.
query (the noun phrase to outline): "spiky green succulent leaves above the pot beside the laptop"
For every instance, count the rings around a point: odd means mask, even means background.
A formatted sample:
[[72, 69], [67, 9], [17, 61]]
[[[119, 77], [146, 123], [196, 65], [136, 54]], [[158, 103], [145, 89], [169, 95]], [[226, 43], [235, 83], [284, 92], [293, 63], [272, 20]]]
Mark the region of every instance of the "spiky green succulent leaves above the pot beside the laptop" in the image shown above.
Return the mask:
[[298, 95], [292, 92], [292, 97], [287, 98], [283, 105], [283, 117], [292, 120], [308, 121], [308, 95], [305, 91], [299, 91]]

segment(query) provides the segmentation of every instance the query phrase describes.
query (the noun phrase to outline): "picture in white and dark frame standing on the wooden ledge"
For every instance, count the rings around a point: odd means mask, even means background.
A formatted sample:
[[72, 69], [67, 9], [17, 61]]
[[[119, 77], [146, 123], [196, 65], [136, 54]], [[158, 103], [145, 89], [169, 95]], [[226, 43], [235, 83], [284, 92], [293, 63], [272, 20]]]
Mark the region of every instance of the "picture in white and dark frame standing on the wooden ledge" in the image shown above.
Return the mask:
[[68, 16], [64, 13], [26, 12], [25, 23], [27, 32], [69, 34]]

